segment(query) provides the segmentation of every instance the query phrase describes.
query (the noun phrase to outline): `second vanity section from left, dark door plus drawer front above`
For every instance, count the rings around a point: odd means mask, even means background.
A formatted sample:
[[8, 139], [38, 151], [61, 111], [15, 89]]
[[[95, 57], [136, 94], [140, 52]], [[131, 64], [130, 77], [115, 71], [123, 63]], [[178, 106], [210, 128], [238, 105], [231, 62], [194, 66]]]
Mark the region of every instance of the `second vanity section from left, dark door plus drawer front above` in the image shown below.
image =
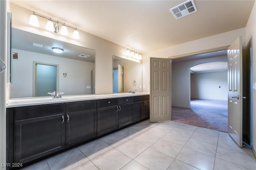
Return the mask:
[[97, 101], [66, 103], [66, 147], [97, 136]]

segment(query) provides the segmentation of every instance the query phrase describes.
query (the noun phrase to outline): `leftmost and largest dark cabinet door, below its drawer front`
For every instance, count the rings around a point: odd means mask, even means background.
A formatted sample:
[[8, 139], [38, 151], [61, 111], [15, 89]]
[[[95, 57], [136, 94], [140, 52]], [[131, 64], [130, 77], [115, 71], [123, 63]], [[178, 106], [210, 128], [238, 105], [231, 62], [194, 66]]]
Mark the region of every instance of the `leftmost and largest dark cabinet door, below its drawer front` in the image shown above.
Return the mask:
[[14, 121], [15, 162], [25, 163], [65, 148], [64, 114]]

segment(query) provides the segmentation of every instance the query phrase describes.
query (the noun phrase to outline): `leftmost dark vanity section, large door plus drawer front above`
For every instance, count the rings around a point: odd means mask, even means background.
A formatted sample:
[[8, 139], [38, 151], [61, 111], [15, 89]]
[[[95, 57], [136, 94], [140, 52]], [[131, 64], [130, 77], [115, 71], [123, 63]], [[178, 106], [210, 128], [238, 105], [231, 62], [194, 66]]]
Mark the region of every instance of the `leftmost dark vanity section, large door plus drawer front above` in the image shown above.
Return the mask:
[[9, 120], [8, 139], [12, 141], [8, 144], [14, 150], [8, 150], [8, 161], [26, 163], [64, 149], [64, 108], [65, 104], [54, 104], [11, 109], [8, 114], [13, 114], [14, 126], [9, 126]]

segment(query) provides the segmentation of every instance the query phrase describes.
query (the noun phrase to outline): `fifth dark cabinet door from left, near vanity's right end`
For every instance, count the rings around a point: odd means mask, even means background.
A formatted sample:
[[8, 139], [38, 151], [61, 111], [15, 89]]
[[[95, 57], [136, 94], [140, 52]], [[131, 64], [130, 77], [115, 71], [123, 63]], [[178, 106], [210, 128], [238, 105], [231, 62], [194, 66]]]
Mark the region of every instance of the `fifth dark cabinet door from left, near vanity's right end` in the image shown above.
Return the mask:
[[141, 121], [143, 119], [145, 119], [145, 102], [144, 101], [138, 101], [138, 102], [134, 102], [134, 123]]

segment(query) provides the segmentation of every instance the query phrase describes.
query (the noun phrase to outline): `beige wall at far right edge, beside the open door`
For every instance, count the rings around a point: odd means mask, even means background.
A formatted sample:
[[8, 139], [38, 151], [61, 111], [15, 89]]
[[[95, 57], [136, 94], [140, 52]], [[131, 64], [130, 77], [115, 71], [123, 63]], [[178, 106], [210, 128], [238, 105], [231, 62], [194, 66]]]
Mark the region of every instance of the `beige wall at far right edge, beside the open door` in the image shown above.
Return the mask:
[[[252, 82], [256, 82], [256, 3], [246, 25], [246, 44], [252, 38]], [[256, 91], [252, 91], [252, 103], [256, 102]], [[252, 146], [256, 155], [256, 105], [252, 105]]]

